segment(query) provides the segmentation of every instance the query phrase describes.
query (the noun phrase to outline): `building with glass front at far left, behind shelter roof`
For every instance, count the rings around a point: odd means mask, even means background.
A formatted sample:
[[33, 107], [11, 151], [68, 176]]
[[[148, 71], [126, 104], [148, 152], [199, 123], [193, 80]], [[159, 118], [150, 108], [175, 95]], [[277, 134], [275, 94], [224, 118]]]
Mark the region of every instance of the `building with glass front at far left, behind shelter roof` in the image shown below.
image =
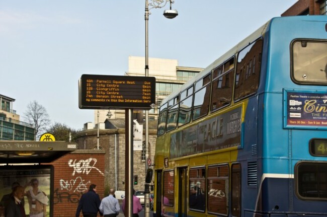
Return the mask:
[[20, 121], [13, 109], [15, 99], [0, 94], [0, 140], [34, 140], [35, 129]]

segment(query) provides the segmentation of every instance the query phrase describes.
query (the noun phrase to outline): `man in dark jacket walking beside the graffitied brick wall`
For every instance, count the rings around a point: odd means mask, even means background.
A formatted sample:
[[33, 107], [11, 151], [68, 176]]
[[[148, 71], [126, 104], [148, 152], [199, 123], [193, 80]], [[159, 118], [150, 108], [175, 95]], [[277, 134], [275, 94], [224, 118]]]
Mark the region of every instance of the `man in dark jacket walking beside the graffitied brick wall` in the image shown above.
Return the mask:
[[76, 217], [79, 217], [80, 211], [82, 211], [84, 217], [96, 217], [98, 211], [100, 215], [102, 215], [99, 210], [100, 203], [101, 200], [99, 194], [97, 194], [97, 186], [92, 184], [90, 185], [89, 191], [80, 197], [76, 210]]

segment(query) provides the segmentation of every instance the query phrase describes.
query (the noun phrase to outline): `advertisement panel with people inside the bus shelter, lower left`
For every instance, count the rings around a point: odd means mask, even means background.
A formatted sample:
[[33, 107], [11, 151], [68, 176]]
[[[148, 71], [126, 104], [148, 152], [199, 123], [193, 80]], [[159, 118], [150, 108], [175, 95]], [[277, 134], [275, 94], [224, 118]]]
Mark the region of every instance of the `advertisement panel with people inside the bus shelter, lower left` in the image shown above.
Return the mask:
[[36, 165], [1, 168], [0, 216], [52, 216], [52, 168]]

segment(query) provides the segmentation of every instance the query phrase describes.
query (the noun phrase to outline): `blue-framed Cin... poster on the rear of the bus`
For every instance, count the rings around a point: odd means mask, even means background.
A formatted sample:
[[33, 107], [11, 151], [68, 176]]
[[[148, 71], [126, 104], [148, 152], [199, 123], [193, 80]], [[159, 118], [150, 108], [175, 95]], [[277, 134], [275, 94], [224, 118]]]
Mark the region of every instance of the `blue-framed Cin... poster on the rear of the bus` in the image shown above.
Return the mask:
[[327, 127], [327, 94], [311, 92], [284, 93], [284, 126], [286, 128], [325, 129]]

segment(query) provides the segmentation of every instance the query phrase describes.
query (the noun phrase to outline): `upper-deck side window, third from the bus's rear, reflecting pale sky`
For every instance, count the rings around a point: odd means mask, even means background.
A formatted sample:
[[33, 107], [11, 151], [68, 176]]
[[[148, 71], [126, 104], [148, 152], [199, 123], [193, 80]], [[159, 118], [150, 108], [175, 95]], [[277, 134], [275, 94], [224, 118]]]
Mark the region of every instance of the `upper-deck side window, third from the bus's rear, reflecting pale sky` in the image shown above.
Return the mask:
[[192, 120], [208, 114], [210, 102], [211, 73], [195, 83]]

